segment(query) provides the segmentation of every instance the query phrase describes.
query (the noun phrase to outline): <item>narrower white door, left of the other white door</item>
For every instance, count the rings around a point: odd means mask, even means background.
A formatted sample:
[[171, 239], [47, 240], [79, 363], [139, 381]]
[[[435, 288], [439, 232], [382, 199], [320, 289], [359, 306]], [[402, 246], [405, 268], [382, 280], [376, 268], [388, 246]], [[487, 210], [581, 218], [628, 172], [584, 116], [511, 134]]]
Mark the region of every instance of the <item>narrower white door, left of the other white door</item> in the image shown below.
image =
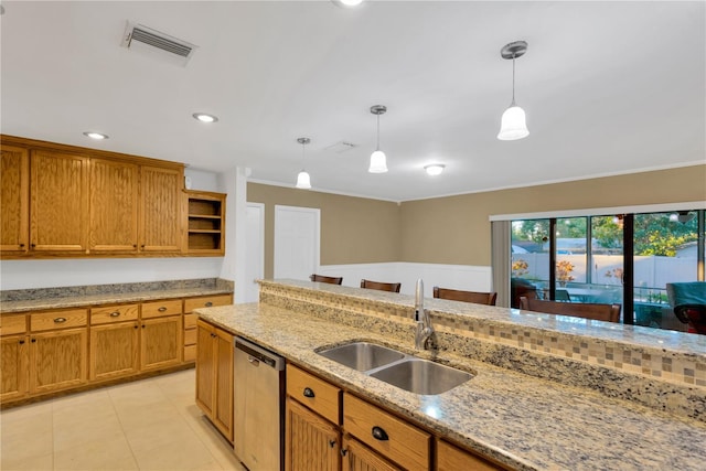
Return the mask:
[[265, 205], [247, 203], [245, 243], [245, 286], [242, 302], [259, 300], [259, 285], [255, 280], [265, 276]]

